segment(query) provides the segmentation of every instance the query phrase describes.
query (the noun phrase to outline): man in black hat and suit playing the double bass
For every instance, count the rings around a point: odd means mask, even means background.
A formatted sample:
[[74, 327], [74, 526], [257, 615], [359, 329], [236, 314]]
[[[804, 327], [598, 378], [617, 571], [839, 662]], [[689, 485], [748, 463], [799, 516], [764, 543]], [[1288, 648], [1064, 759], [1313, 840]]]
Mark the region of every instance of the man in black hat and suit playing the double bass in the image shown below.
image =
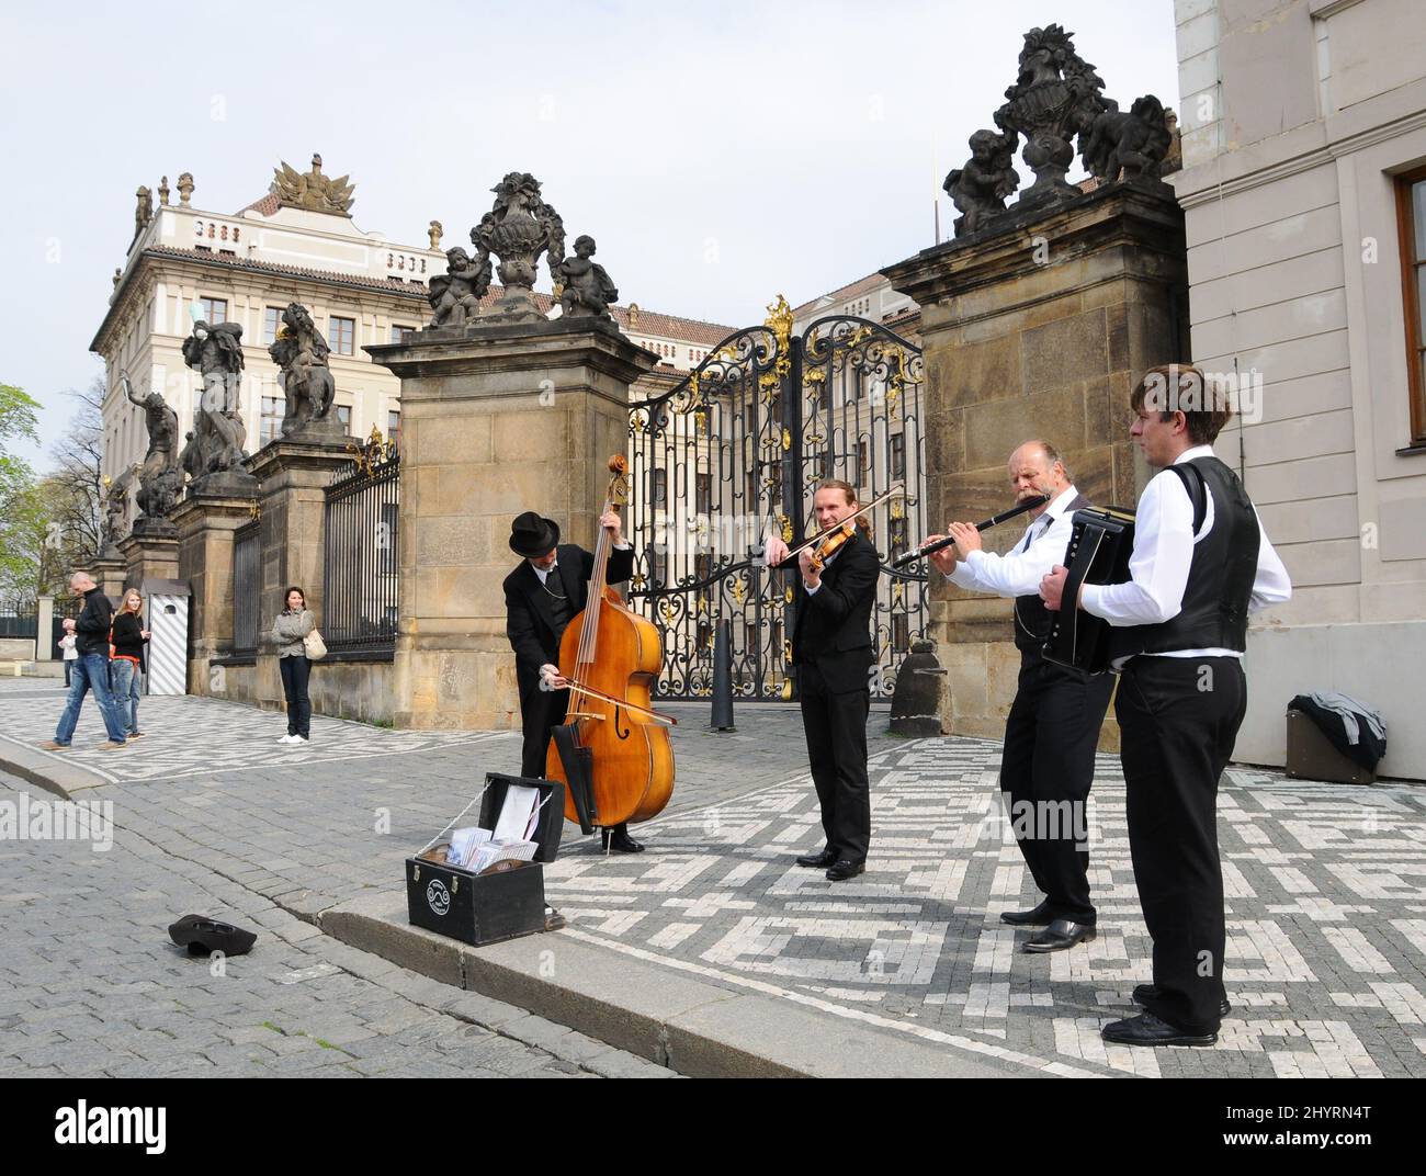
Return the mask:
[[[633, 574], [633, 547], [623, 540], [619, 513], [599, 520], [609, 529], [606, 582], [617, 584]], [[511, 526], [511, 550], [525, 559], [505, 577], [505, 636], [515, 650], [515, 681], [520, 693], [525, 747], [520, 775], [545, 775], [549, 733], [565, 721], [569, 691], [559, 673], [559, 640], [569, 621], [589, 599], [595, 556], [576, 543], [559, 542], [559, 525], [526, 510]], [[603, 831], [605, 848], [622, 854], [643, 850], [629, 837], [627, 825]]]

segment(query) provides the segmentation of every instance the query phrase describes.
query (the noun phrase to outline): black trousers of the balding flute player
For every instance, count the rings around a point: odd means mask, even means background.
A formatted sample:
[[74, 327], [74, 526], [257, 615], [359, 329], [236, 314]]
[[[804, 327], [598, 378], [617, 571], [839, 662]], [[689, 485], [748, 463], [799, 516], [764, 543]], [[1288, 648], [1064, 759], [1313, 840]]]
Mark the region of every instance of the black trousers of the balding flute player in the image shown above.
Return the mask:
[[1087, 804], [1094, 748], [1114, 676], [1091, 677], [1021, 654], [1020, 686], [1005, 720], [1000, 790], [1011, 828], [1050, 917], [1092, 924]]

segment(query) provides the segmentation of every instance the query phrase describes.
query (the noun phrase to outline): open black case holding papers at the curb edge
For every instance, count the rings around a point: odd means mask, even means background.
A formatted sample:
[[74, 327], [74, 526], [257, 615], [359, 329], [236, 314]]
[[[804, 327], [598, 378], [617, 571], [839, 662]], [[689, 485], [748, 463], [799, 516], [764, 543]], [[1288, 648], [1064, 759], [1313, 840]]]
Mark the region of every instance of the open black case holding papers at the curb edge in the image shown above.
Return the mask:
[[[446, 865], [449, 841], [438, 841], [406, 858], [406, 912], [412, 925], [481, 947], [565, 925], [545, 908], [545, 862], [559, 854], [565, 828], [565, 785], [503, 773], [488, 773], [476, 824], [495, 828], [506, 790], [519, 784], [539, 791], [540, 810], [530, 840], [539, 847], [533, 861], [511, 868], [472, 874]], [[505, 862], [498, 862], [505, 865]]]

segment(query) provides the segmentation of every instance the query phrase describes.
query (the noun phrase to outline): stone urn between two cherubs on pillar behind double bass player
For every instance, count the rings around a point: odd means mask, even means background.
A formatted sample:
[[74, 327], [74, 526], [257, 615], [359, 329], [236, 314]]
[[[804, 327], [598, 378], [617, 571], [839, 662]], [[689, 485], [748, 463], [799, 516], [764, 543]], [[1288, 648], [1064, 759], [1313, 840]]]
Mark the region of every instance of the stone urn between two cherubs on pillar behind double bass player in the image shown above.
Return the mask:
[[539, 181], [528, 171], [512, 171], [491, 188], [495, 204], [471, 229], [476, 265], [483, 268], [491, 254], [501, 259], [505, 294], [486, 316], [491, 322], [543, 322], [535, 304], [535, 275], [539, 255], [549, 252], [550, 271], [565, 259], [565, 222], [545, 202]]

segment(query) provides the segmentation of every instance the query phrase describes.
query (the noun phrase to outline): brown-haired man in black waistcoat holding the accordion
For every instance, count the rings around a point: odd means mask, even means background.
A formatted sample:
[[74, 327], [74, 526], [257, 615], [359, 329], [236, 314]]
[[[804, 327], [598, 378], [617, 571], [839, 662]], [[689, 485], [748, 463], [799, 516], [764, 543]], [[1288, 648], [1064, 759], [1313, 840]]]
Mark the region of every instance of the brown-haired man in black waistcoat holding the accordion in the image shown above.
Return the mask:
[[[1129, 854], [1154, 982], [1145, 1012], [1104, 1028], [1119, 1045], [1212, 1045], [1224, 991], [1224, 878], [1218, 778], [1248, 707], [1242, 656], [1249, 609], [1292, 596], [1258, 512], [1212, 442], [1232, 415], [1192, 366], [1152, 368], [1131, 395], [1129, 435], [1161, 470], [1139, 497], [1131, 579], [1085, 584], [1077, 602], [1115, 626], [1115, 714]], [[1058, 609], [1065, 572], [1041, 594]]]

